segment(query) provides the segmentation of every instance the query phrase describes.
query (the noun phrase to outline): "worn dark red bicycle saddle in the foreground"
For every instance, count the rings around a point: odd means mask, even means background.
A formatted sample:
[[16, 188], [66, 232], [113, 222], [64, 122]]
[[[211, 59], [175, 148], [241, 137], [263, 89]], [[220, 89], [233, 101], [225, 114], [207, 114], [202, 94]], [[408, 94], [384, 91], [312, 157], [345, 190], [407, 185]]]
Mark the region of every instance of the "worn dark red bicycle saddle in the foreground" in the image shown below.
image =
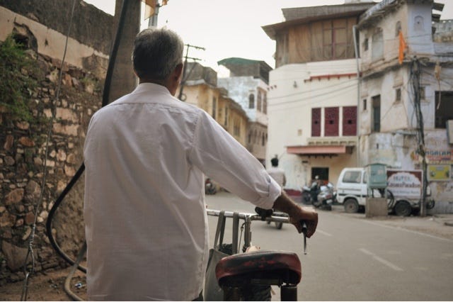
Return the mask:
[[[258, 251], [222, 258], [215, 268], [219, 285], [251, 283], [256, 280], [299, 284], [302, 269], [294, 252]], [[270, 283], [269, 283], [270, 284]]]

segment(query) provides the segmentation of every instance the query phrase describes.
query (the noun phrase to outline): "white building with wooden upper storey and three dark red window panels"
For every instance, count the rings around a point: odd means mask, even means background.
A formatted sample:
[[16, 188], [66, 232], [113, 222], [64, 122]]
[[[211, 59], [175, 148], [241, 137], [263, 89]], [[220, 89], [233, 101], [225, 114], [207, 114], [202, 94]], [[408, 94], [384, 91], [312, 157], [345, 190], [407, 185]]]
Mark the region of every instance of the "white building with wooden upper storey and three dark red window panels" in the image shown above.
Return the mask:
[[277, 155], [287, 189], [319, 175], [336, 182], [357, 165], [357, 59], [353, 27], [374, 3], [282, 9], [263, 26], [276, 41], [268, 90], [266, 163]]

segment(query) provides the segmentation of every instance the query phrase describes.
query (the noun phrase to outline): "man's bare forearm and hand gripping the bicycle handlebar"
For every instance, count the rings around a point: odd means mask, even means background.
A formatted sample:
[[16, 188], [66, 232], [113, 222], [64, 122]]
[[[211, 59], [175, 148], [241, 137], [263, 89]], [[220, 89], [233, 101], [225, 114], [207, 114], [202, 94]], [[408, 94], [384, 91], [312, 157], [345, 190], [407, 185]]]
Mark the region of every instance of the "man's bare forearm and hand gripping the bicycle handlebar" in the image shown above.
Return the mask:
[[289, 220], [297, 228], [299, 233], [302, 233], [302, 224], [300, 221], [304, 220], [307, 228], [306, 237], [311, 237], [316, 231], [318, 213], [298, 206], [287, 196], [285, 191], [282, 190], [282, 194], [275, 200], [273, 208], [277, 211], [287, 213]]

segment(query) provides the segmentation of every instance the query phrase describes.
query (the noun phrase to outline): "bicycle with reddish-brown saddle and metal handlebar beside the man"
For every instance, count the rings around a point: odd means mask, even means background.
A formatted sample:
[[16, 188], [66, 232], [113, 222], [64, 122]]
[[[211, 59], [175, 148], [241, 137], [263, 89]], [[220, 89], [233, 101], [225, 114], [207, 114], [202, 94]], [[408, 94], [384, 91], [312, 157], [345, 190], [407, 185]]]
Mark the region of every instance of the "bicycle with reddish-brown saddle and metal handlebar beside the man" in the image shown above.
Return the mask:
[[[297, 284], [302, 277], [299, 257], [294, 252], [254, 251], [246, 252], [251, 245], [251, 223], [265, 220], [274, 223], [289, 223], [287, 216], [273, 216], [272, 210], [256, 208], [257, 213], [234, 213], [207, 209], [207, 215], [243, 220], [242, 253], [219, 260], [215, 272], [223, 290], [224, 301], [270, 301], [270, 286], [280, 287], [281, 301], [297, 301]], [[306, 225], [303, 223], [304, 253], [306, 254]], [[236, 231], [239, 231], [236, 229]], [[217, 235], [217, 234], [216, 234]], [[233, 234], [234, 240], [238, 234]], [[217, 238], [216, 238], [217, 241]], [[235, 243], [233, 243], [234, 245]], [[237, 244], [237, 242], [236, 242]]]

